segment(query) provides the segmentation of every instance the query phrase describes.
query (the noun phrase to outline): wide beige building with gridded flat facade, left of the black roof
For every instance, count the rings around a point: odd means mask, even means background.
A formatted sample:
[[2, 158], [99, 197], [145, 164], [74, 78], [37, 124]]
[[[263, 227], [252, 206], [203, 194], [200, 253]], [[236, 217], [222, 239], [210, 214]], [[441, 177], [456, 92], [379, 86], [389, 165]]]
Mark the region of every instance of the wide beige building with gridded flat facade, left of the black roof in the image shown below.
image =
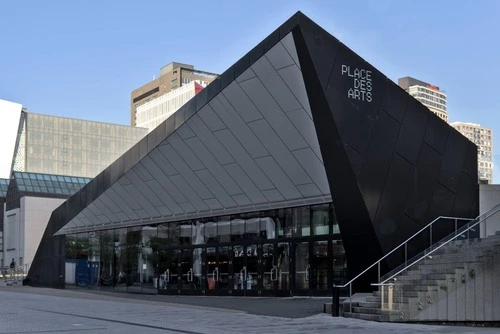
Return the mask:
[[13, 171], [93, 178], [147, 134], [147, 129], [21, 113]]

